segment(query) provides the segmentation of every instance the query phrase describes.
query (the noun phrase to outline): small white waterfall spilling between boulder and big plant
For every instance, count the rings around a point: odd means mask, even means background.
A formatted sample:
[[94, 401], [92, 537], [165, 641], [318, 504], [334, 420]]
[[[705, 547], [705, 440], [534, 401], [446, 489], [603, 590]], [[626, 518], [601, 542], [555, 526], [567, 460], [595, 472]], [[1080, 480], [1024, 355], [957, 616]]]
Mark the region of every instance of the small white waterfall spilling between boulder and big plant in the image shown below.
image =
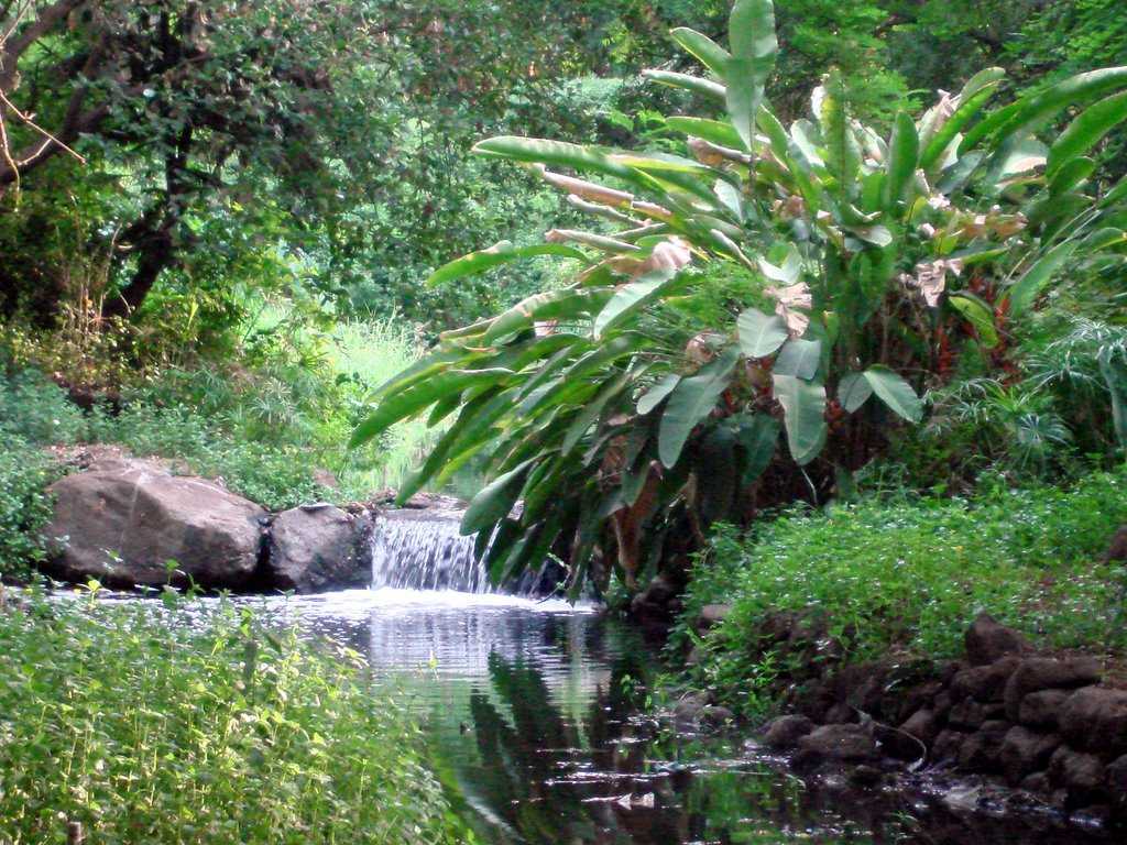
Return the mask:
[[372, 586], [492, 593], [486, 568], [473, 558], [474, 537], [458, 533], [456, 514], [394, 510], [372, 532]]

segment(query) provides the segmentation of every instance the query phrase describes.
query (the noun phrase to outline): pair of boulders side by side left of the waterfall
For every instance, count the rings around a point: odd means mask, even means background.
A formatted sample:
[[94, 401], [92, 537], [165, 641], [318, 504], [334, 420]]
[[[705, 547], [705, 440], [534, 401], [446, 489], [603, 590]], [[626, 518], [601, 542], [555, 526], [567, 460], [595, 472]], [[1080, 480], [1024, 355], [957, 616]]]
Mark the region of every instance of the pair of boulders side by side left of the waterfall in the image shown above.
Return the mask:
[[216, 481], [125, 459], [94, 463], [50, 492], [46, 570], [60, 580], [316, 593], [371, 579], [373, 517], [364, 509], [272, 515]]

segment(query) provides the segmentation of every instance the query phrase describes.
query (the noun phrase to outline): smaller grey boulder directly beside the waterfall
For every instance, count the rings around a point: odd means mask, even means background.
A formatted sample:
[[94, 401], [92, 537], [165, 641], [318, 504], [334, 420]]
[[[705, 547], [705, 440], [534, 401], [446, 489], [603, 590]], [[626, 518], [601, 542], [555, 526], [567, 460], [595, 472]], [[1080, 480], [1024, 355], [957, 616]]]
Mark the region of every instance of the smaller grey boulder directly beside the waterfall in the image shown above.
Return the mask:
[[372, 518], [332, 505], [278, 514], [270, 530], [266, 579], [277, 589], [319, 593], [372, 582]]

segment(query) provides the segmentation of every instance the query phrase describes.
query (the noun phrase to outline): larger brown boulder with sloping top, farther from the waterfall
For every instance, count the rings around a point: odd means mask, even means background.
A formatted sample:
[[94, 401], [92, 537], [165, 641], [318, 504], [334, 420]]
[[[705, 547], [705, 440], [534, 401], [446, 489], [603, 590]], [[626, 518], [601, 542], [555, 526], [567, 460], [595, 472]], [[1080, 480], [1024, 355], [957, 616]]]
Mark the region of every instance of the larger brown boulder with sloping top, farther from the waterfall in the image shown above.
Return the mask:
[[[48, 572], [112, 587], [239, 588], [255, 575], [266, 512], [214, 481], [149, 461], [113, 460], [50, 488]], [[169, 563], [176, 572], [170, 577]]]

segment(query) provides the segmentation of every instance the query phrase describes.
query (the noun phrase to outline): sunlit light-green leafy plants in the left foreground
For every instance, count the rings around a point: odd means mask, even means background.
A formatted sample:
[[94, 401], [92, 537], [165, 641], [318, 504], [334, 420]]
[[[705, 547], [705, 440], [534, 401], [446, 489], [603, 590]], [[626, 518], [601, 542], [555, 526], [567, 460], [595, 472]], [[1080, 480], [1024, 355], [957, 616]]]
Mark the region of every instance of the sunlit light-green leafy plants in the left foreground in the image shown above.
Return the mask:
[[107, 843], [473, 840], [356, 652], [229, 607], [8, 604], [0, 840], [61, 845], [69, 822]]

